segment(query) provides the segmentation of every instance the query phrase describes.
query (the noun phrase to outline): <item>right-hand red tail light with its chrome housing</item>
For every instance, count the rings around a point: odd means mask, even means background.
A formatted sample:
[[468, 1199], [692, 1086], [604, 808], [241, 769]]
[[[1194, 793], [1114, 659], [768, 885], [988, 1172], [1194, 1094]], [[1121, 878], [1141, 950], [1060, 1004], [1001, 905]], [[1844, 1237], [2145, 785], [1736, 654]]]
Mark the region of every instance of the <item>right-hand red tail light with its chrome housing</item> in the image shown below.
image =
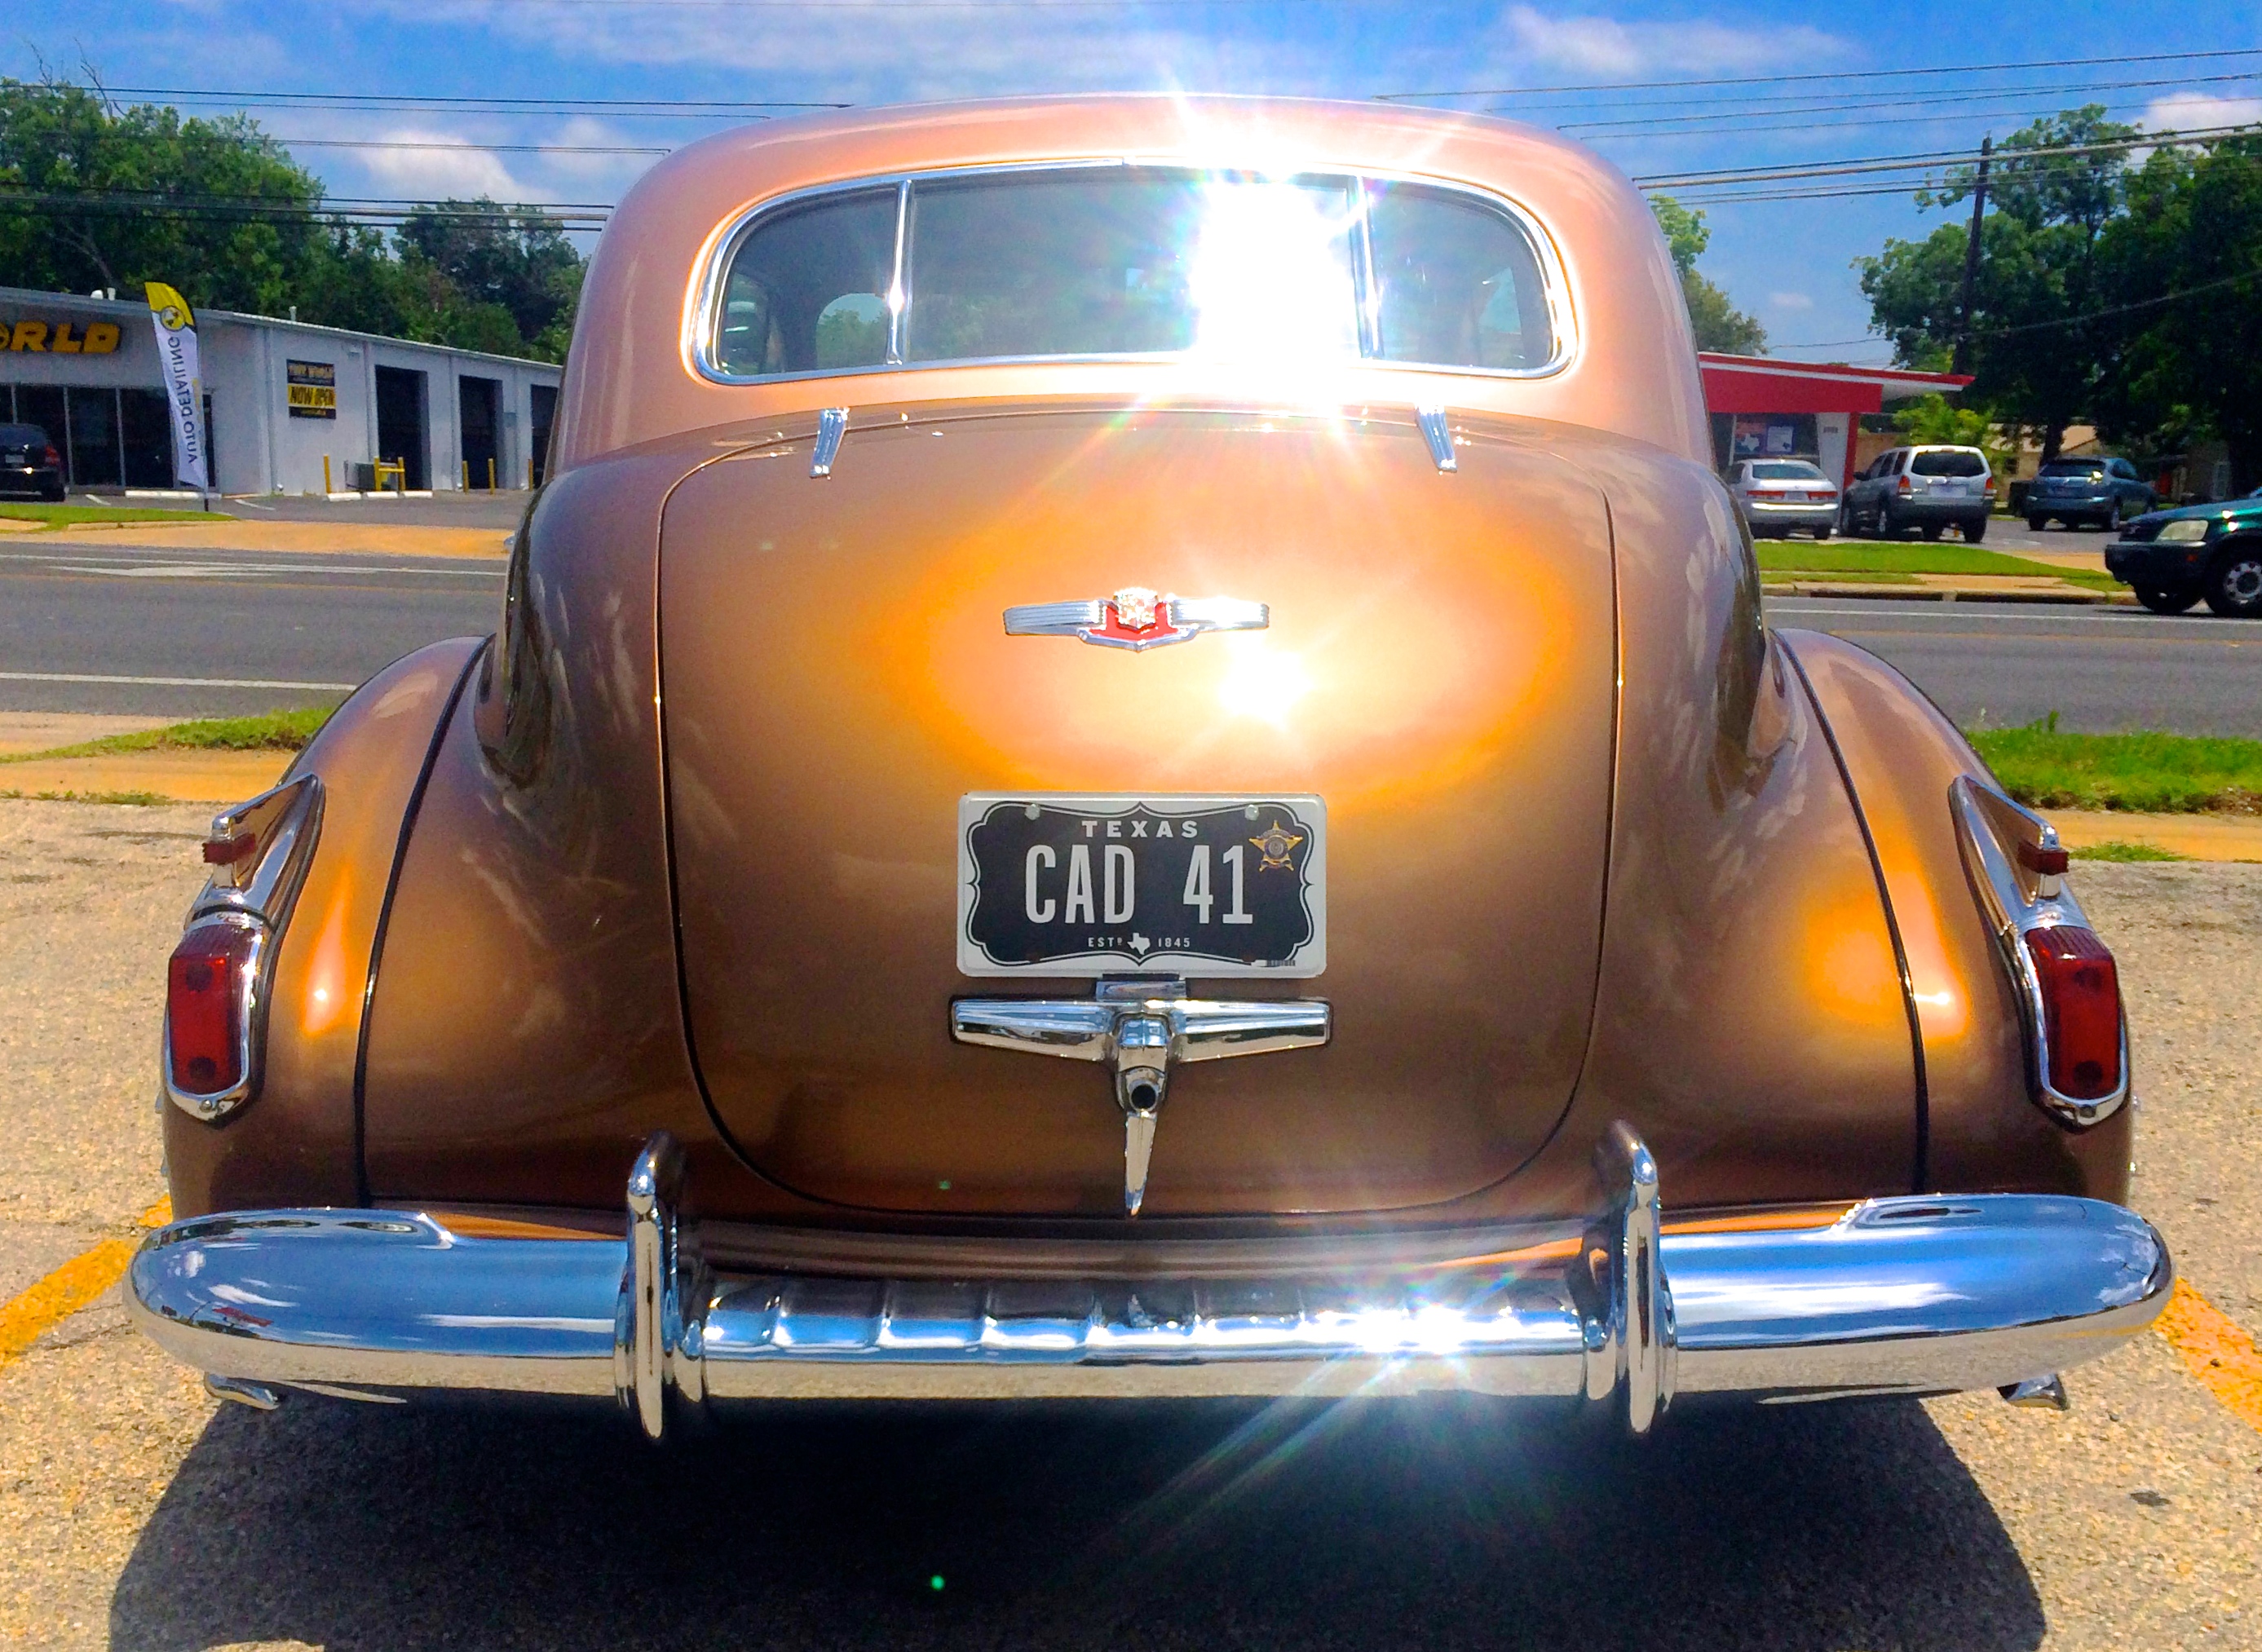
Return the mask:
[[2129, 1014], [2110, 948], [2065, 889], [2058, 828], [1968, 774], [1948, 808], [2027, 1030], [2027, 1086], [2083, 1129], [2129, 1102]]

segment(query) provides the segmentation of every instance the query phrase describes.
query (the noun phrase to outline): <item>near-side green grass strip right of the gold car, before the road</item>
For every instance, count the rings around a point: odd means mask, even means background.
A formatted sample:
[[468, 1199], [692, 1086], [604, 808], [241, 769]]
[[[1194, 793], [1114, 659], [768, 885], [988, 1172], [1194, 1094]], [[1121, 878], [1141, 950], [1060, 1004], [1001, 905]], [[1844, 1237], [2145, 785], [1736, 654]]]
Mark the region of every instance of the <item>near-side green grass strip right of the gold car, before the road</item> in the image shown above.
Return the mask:
[[2065, 733], [2058, 713], [1968, 735], [2004, 790], [2029, 808], [2262, 815], [2262, 740]]

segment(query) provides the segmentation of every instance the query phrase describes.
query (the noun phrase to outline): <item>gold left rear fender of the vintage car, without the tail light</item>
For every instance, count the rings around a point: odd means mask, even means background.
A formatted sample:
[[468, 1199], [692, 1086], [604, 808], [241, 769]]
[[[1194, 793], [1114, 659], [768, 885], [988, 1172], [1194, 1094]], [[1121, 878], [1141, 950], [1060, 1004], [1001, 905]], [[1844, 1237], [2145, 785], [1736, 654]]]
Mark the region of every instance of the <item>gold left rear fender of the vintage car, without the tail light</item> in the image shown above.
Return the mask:
[[276, 953], [260, 1089], [213, 1122], [163, 1107], [176, 1218], [362, 1202], [353, 1091], [373, 953], [439, 731], [482, 647], [464, 636], [394, 661], [292, 763], [292, 776], [321, 776], [323, 812]]

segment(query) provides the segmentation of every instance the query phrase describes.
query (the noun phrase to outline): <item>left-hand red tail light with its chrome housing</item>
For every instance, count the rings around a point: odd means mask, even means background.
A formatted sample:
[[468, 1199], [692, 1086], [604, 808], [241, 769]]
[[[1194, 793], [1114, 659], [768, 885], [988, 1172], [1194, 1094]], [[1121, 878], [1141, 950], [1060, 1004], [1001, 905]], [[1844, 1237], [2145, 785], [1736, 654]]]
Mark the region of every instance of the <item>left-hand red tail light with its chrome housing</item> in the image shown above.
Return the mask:
[[226, 1118], [258, 1095], [276, 946], [321, 833], [321, 781], [301, 774], [213, 817], [210, 880], [165, 964], [158, 1082], [190, 1118]]

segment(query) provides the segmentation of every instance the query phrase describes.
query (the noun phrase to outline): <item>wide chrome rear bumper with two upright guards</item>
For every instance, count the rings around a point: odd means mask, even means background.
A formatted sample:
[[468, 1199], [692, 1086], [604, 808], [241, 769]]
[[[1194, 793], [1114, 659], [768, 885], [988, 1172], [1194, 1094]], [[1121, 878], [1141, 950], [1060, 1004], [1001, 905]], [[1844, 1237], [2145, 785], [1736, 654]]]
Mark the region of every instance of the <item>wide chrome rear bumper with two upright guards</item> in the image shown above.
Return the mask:
[[240, 1211], [152, 1233], [131, 1313], [215, 1392], [618, 1399], [1407, 1394], [1586, 1399], [1647, 1432], [1674, 1396], [1810, 1401], [2047, 1385], [2149, 1326], [2174, 1265], [2097, 1199], [1868, 1199], [1814, 1224], [1667, 1231], [1656, 1163], [1615, 1127], [1606, 1213], [1470, 1233], [1448, 1265], [1355, 1276], [844, 1279], [715, 1274], [681, 1152], [629, 1177], [604, 1238], [470, 1238], [396, 1211]]

